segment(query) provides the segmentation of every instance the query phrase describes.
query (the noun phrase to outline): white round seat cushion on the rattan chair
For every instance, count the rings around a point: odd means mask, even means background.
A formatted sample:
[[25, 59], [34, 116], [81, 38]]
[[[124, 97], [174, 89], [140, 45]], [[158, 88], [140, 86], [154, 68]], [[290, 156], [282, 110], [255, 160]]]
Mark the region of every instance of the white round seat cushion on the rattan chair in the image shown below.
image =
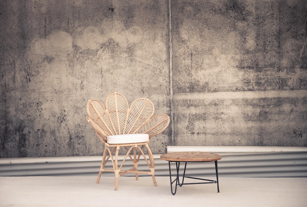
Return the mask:
[[109, 144], [129, 144], [148, 142], [148, 134], [128, 134], [128, 135], [110, 135], [107, 136], [107, 143]]

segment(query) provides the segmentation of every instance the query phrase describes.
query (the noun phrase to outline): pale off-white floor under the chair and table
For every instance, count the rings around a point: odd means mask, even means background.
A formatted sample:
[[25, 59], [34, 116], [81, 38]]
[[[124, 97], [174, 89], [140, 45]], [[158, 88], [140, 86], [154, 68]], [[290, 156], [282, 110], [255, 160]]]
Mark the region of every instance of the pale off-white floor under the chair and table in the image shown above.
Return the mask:
[[[209, 178], [213, 179], [214, 178]], [[306, 207], [307, 178], [219, 178], [170, 192], [169, 177], [0, 177], [0, 206], [278, 206]]]

